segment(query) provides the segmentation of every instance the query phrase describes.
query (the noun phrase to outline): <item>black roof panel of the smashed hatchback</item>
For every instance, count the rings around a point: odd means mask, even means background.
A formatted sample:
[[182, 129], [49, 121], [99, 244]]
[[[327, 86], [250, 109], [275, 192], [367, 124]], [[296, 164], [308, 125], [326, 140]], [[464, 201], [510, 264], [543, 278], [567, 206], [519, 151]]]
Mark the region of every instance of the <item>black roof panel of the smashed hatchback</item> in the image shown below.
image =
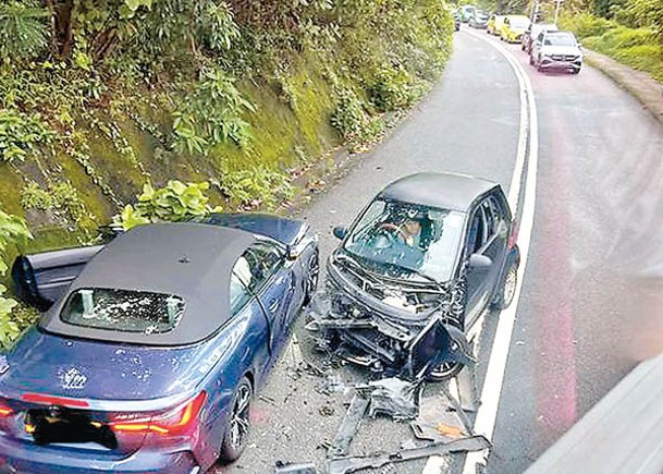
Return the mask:
[[498, 183], [467, 174], [423, 172], [394, 181], [377, 197], [466, 212], [477, 198], [496, 187]]

